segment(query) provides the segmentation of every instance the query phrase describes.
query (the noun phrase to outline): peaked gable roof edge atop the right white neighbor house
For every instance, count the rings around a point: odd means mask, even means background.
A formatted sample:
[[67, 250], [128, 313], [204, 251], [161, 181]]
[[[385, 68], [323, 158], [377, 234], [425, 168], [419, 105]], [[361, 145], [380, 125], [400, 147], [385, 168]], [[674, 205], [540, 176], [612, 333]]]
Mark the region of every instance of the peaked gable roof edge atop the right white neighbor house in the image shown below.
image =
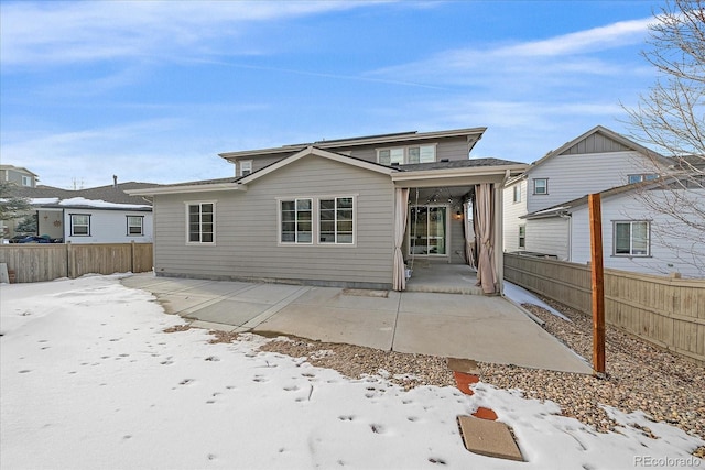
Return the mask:
[[584, 134], [573, 139], [570, 142], [564, 143], [558, 149], [553, 150], [546, 153], [543, 157], [536, 160], [531, 164], [531, 167], [527, 171], [530, 173], [535, 167], [544, 164], [546, 161], [552, 160], [558, 155], [567, 155], [567, 154], [578, 154], [578, 153], [598, 153], [595, 151], [590, 151], [590, 144], [595, 144], [597, 138], [601, 136], [601, 144], [609, 145], [611, 152], [620, 152], [620, 151], [634, 151], [639, 152], [644, 156], [653, 157], [664, 165], [670, 165], [671, 162], [664, 157], [663, 155], [652, 151], [651, 149], [647, 149], [643, 145], [638, 144], [637, 142], [627, 139], [626, 136], [609, 130], [603, 125], [596, 125]]

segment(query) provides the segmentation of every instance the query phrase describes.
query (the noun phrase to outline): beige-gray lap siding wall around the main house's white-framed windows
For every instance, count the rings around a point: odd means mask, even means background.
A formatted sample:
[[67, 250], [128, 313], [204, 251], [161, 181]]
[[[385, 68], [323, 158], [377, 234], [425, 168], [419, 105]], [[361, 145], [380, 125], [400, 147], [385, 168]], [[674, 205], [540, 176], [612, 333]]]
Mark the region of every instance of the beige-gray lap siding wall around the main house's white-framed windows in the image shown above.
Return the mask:
[[[356, 196], [355, 245], [280, 245], [278, 198]], [[185, 243], [185, 201], [216, 201], [215, 245]], [[247, 192], [156, 196], [156, 272], [221, 278], [391, 284], [394, 193], [389, 176], [305, 156]], [[314, 237], [317, 227], [314, 229]]]

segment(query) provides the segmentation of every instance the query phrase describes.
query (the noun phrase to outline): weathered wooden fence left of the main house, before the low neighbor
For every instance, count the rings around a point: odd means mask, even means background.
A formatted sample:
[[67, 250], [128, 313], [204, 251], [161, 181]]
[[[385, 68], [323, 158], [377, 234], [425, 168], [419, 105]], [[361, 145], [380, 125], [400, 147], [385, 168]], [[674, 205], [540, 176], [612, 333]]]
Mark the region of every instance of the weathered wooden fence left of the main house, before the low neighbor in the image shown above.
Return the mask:
[[152, 270], [152, 243], [19, 243], [0, 245], [0, 263], [15, 282]]

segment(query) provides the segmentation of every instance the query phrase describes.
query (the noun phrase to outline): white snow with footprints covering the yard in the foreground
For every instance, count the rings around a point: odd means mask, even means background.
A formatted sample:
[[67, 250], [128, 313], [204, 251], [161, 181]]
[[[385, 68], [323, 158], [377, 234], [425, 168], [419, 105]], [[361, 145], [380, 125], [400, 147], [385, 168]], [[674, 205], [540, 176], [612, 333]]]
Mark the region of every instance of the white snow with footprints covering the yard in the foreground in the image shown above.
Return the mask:
[[[704, 442], [611, 411], [620, 434], [558, 416], [554, 403], [478, 384], [404, 392], [305, 359], [210, 345], [119, 276], [0, 286], [0, 467], [10, 469], [705, 468]], [[528, 462], [468, 452], [456, 416], [510, 425]], [[648, 426], [659, 439], [633, 424]]]

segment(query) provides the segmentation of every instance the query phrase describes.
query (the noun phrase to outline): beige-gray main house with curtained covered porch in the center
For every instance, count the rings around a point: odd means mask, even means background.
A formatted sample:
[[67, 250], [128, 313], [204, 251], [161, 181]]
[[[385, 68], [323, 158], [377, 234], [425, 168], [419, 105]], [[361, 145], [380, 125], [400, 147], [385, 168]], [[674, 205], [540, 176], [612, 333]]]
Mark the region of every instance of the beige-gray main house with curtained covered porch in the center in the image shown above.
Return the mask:
[[235, 177], [128, 193], [153, 198], [159, 276], [386, 289], [405, 287], [412, 259], [466, 263], [470, 204], [482, 286], [497, 292], [501, 187], [527, 165], [468, 159], [484, 131], [223, 153]]

